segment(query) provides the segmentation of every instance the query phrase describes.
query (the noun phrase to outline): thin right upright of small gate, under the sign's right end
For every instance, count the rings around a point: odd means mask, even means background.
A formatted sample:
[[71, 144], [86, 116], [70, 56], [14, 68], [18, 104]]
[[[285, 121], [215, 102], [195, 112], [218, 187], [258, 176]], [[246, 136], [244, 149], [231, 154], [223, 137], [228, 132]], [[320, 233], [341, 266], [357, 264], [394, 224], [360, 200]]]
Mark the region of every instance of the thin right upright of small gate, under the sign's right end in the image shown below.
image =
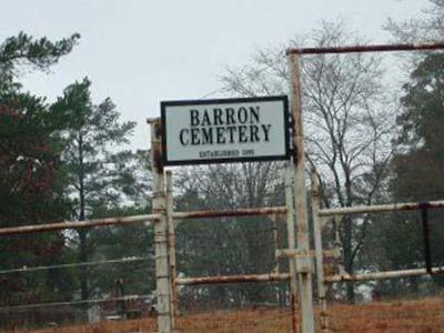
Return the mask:
[[[291, 164], [285, 172], [285, 204], [286, 204], [286, 236], [289, 250], [296, 249], [296, 241], [294, 238], [294, 201], [293, 201], [293, 169]], [[290, 266], [290, 306], [292, 311], [292, 333], [297, 332], [296, 327], [296, 305], [297, 305], [297, 280], [296, 280], [296, 258], [289, 256]]]

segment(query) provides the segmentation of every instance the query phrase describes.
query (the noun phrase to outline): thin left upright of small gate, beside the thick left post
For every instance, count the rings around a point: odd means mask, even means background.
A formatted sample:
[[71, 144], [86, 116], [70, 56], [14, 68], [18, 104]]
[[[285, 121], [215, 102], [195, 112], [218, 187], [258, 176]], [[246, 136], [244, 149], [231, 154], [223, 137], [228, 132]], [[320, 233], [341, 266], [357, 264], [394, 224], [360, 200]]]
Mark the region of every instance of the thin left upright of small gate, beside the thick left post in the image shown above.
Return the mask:
[[178, 329], [178, 286], [175, 284], [175, 231], [173, 219], [173, 183], [172, 172], [168, 170], [167, 175], [167, 219], [168, 219], [168, 244], [170, 254], [170, 287], [171, 287], [171, 325], [173, 332]]

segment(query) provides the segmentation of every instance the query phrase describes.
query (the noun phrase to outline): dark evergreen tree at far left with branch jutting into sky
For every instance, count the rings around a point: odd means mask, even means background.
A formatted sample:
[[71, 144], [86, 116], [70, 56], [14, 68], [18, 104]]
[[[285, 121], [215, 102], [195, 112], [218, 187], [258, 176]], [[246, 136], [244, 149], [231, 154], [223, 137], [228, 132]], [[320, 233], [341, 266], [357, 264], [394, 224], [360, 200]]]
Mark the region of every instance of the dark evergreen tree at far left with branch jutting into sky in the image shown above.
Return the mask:
[[[78, 38], [73, 34], [51, 42], [20, 33], [0, 44], [1, 226], [49, 223], [68, 216], [70, 203], [63, 195], [65, 173], [60, 161], [61, 131], [67, 122], [43, 98], [22, 92], [16, 80], [26, 64], [48, 70], [71, 51]], [[63, 255], [62, 233], [0, 239], [2, 270], [54, 263]], [[2, 274], [1, 304], [43, 302], [51, 299], [51, 290], [60, 292], [67, 283], [74, 283], [65, 271], [58, 274], [58, 279], [44, 273]]]

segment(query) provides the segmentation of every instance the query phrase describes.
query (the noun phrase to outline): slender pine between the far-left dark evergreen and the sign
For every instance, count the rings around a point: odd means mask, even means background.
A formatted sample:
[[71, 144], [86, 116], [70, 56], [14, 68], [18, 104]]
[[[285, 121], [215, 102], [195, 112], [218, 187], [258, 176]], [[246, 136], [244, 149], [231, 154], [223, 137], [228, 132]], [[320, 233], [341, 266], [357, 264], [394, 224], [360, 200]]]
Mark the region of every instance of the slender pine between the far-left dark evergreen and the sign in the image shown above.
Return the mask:
[[[94, 104], [91, 82], [84, 78], [69, 85], [51, 110], [69, 120], [62, 131], [64, 151], [62, 163], [68, 175], [68, 195], [73, 199], [73, 220], [112, 216], [119, 212], [147, 210], [150, 190], [149, 159], [147, 151], [119, 150], [129, 143], [134, 122], [122, 122], [111, 99]], [[111, 215], [110, 215], [111, 214]], [[140, 239], [134, 228], [79, 230], [78, 261], [93, 258], [121, 258], [130, 255], [130, 248], [117, 249], [115, 244], [134, 244], [133, 253], [147, 253], [148, 234]], [[113, 246], [105, 245], [105, 240]], [[140, 251], [137, 251], [137, 250]], [[134, 255], [134, 254], [131, 254]], [[112, 280], [128, 276], [124, 265], [113, 266], [114, 274], [99, 276], [91, 269], [79, 269], [82, 299], [109, 291]]]

